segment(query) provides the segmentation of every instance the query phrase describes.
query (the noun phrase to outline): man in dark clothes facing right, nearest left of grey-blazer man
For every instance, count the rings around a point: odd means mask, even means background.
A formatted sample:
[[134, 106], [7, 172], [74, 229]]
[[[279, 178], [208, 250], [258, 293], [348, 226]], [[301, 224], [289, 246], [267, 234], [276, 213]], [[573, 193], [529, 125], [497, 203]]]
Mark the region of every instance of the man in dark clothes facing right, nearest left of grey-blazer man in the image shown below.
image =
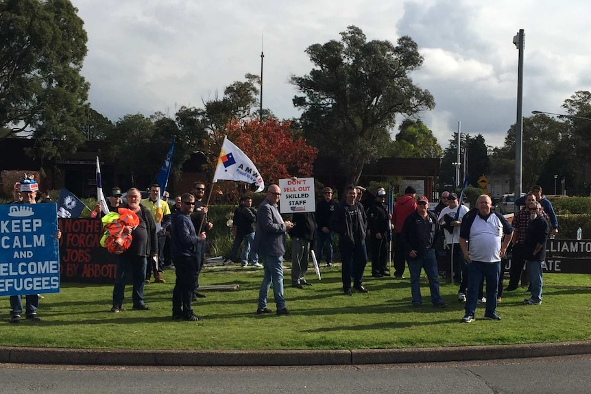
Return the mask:
[[195, 273], [199, 257], [197, 254], [202, 236], [197, 235], [191, 221], [191, 213], [195, 208], [195, 197], [191, 193], [181, 196], [180, 209], [173, 215], [171, 224], [171, 254], [176, 267], [176, 282], [172, 292], [172, 319], [199, 321], [191, 308], [193, 290], [195, 288]]

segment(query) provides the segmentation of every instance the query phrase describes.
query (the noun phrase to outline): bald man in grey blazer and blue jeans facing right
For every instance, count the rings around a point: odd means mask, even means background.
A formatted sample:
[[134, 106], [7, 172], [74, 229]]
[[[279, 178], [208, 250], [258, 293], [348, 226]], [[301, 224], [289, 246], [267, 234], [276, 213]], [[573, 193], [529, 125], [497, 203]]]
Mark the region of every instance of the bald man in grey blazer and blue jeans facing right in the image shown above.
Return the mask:
[[267, 308], [267, 295], [273, 283], [273, 294], [277, 306], [277, 315], [289, 315], [283, 297], [283, 255], [285, 254], [285, 233], [293, 227], [291, 221], [283, 221], [277, 203], [281, 190], [276, 184], [269, 186], [267, 198], [258, 206], [256, 212], [256, 232], [254, 251], [259, 262], [263, 263], [265, 276], [258, 291], [257, 315], [271, 313]]

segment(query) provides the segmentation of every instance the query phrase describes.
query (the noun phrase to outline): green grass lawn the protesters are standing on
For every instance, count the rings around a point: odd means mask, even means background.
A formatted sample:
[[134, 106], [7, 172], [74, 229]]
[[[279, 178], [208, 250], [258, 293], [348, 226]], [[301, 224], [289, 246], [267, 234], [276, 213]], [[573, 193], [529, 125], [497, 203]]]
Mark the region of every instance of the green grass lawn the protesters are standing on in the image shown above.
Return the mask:
[[[289, 265], [286, 264], [286, 265]], [[369, 275], [369, 265], [366, 276]], [[313, 286], [289, 286], [285, 298], [291, 315], [256, 315], [263, 271], [234, 265], [206, 268], [202, 285], [239, 284], [239, 291], [208, 291], [193, 303], [204, 321], [171, 321], [173, 271], [166, 284], [147, 284], [149, 311], [131, 310], [131, 286], [120, 313], [110, 313], [112, 286], [62, 284], [61, 293], [40, 300], [39, 323], [8, 322], [8, 297], [1, 297], [0, 345], [88, 349], [365, 349], [500, 345], [581, 341], [591, 338], [591, 275], [544, 275], [544, 302], [524, 306], [525, 288], [505, 293], [498, 306], [502, 321], [459, 323], [463, 304], [457, 286], [442, 284], [449, 306], [433, 308], [429, 286], [422, 282], [424, 304], [411, 308], [409, 280], [366, 278], [370, 293], [342, 295], [339, 267], [322, 269], [322, 281], [309, 273]], [[408, 272], [407, 275], [408, 277]], [[275, 310], [272, 291], [269, 307]], [[24, 300], [23, 300], [24, 301]]]

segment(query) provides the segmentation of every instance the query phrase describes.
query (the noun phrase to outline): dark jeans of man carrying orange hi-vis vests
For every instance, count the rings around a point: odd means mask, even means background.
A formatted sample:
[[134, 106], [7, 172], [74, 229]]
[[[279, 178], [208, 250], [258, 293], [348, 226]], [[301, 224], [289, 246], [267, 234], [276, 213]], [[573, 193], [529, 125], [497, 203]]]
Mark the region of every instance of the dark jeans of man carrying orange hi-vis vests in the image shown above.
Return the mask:
[[128, 256], [120, 254], [117, 256], [117, 274], [113, 286], [113, 306], [123, 304], [125, 298], [125, 281], [132, 276], [132, 301], [134, 308], [144, 304], [144, 285], [146, 278], [146, 256]]

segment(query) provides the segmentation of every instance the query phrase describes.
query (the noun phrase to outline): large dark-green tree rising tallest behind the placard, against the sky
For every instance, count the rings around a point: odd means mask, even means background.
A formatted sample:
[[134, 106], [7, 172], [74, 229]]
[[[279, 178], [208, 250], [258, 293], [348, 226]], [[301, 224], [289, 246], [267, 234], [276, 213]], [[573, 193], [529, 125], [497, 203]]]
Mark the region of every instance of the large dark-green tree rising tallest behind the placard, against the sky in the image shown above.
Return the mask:
[[367, 41], [359, 27], [350, 26], [340, 41], [308, 47], [314, 68], [303, 77], [291, 77], [303, 93], [293, 104], [304, 110], [306, 138], [343, 164], [348, 183], [356, 184], [363, 166], [381, 157], [396, 114], [413, 115], [435, 106], [429, 91], [415, 86], [409, 76], [423, 62], [416, 43], [408, 36], [397, 43]]

